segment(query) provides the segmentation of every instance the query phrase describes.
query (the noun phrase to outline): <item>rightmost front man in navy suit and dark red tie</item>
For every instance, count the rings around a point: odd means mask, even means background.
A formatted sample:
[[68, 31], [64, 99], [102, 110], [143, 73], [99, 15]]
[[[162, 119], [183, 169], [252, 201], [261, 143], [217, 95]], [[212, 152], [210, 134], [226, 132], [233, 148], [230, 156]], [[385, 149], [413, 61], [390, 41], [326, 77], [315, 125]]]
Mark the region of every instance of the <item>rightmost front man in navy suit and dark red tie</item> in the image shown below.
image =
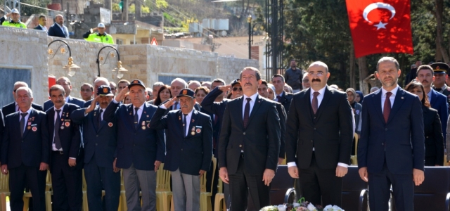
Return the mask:
[[368, 181], [371, 210], [388, 210], [391, 186], [397, 210], [414, 210], [414, 184], [424, 180], [422, 105], [397, 85], [401, 72], [395, 58], [378, 60], [377, 71], [383, 87], [363, 101], [359, 176]]

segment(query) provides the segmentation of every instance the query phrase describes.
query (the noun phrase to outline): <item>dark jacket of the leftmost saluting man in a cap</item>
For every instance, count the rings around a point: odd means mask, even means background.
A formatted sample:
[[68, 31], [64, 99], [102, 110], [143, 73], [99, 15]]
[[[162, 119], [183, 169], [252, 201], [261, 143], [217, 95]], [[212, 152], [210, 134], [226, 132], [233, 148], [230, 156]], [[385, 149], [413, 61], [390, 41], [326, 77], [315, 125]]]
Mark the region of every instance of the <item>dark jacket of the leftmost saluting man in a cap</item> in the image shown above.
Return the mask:
[[98, 125], [100, 107], [84, 115], [86, 108], [80, 108], [72, 113], [72, 121], [83, 127], [84, 163], [95, 158], [99, 167], [113, 168], [117, 156], [117, 120], [106, 122], [104, 119]]

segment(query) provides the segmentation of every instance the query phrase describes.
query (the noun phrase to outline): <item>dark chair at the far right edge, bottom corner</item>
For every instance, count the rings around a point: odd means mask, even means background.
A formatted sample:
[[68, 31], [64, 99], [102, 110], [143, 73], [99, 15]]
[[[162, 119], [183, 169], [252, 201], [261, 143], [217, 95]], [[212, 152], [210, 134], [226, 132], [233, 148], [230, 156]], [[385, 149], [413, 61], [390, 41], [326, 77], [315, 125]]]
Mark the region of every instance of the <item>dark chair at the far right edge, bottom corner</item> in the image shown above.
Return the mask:
[[450, 210], [450, 167], [425, 167], [425, 181], [414, 186], [414, 210]]

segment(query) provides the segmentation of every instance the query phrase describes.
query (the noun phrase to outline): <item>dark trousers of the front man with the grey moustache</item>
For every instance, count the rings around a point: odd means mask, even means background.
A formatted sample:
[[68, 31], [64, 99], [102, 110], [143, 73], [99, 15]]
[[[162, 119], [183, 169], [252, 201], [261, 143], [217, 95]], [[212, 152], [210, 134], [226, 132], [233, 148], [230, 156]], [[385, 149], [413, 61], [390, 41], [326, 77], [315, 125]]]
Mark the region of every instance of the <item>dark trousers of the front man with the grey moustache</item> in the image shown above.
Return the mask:
[[[229, 174], [231, 207], [230, 211], [244, 211], [248, 205], [248, 193], [256, 210], [270, 205], [270, 186], [264, 185], [262, 173], [247, 172], [245, 158], [240, 158], [236, 174]], [[250, 174], [251, 173], [251, 174]]]

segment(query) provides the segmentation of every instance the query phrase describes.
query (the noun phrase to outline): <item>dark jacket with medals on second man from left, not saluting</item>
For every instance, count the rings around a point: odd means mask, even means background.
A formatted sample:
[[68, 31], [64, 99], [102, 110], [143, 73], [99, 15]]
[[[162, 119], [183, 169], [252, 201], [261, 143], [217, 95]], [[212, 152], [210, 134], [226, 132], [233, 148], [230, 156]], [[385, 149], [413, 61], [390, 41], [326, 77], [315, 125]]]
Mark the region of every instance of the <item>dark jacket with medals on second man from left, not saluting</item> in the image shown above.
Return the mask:
[[[79, 109], [79, 106], [72, 103], [65, 103], [61, 113], [61, 124], [58, 129], [59, 139], [63, 148], [64, 159], [77, 158], [77, 169], [82, 167], [82, 153], [81, 151], [81, 132], [79, 124], [72, 121], [72, 112]], [[49, 143], [50, 150], [53, 150], [53, 139], [55, 136], [55, 109], [53, 106], [46, 111], [47, 124], [49, 125]], [[63, 125], [64, 124], [64, 125]], [[52, 167], [50, 167], [52, 170]]]

